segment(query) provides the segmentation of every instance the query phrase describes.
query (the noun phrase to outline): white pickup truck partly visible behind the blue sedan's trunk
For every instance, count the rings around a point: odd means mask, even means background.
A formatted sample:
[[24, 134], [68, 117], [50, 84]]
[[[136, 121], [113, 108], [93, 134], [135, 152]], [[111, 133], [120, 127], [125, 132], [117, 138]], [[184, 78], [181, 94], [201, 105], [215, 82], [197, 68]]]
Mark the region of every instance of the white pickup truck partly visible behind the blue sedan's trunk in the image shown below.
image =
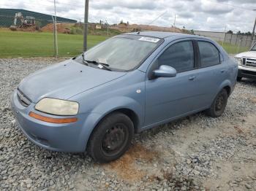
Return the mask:
[[256, 43], [248, 52], [241, 52], [235, 58], [238, 61], [237, 80], [242, 77], [256, 79]]

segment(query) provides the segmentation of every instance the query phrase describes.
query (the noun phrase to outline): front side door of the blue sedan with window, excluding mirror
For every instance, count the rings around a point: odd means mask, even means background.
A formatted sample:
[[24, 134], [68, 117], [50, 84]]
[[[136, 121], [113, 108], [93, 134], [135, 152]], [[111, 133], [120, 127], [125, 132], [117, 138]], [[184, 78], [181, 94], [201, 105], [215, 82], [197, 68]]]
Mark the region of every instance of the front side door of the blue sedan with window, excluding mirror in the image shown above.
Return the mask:
[[192, 112], [197, 67], [194, 47], [192, 40], [176, 42], [154, 61], [154, 69], [172, 66], [177, 75], [146, 80], [145, 126]]

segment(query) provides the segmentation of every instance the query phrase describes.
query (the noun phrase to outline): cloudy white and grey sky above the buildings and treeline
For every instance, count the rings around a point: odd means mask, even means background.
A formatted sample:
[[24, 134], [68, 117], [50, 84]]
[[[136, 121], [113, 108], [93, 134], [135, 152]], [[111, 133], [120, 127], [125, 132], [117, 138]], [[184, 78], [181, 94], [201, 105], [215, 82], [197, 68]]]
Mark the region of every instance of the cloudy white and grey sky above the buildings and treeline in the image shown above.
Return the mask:
[[[83, 22], [85, 0], [56, 0], [57, 16]], [[53, 0], [0, 0], [0, 8], [28, 9], [53, 15]], [[200, 31], [252, 31], [256, 0], [90, 0], [89, 22], [173, 26]], [[162, 15], [155, 20], [159, 15]], [[155, 21], [154, 21], [155, 20]], [[152, 23], [152, 21], [154, 21]]]

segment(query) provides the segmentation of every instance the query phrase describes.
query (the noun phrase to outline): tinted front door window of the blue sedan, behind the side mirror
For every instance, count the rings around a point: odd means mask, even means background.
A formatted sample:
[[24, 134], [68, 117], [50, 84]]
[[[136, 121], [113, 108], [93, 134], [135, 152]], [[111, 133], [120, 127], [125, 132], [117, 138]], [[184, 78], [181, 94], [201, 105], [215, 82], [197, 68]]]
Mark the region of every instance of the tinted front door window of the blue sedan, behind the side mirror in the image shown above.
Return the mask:
[[177, 72], [194, 69], [194, 49], [192, 41], [177, 42], [158, 58], [159, 66], [172, 66]]

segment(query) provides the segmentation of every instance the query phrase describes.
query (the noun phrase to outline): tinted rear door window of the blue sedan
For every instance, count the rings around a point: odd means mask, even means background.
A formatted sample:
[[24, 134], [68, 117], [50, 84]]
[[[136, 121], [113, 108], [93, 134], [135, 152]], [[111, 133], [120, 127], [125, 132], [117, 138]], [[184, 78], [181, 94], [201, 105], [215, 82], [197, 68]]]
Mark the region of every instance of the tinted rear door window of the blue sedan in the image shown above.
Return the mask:
[[198, 42], [201, 67], [214, 66], [220, 63], [219, 50], [210, 42]]

